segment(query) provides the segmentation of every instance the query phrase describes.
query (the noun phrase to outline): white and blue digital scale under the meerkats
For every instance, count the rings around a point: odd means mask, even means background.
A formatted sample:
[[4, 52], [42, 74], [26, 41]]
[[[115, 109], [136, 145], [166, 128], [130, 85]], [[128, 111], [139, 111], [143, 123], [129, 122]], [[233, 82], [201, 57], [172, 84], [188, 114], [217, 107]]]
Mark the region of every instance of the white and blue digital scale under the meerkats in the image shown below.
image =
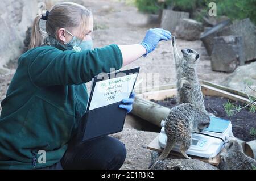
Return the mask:
[[[161, 132], [158, 143], [161, 148], [166, 147], [167, 135], [164, 132], [164, 121], [161, 122]], [[185, 152], [203, 158], [213, 158], [224, 148], [224, 143], [232, 135], [232, 125], [229, 120], [210, 116], [210, 125], [200, 133], [192, 134], [192, 143]], [[180, 145], [175, 144], [172, 151], [180, 151]]]

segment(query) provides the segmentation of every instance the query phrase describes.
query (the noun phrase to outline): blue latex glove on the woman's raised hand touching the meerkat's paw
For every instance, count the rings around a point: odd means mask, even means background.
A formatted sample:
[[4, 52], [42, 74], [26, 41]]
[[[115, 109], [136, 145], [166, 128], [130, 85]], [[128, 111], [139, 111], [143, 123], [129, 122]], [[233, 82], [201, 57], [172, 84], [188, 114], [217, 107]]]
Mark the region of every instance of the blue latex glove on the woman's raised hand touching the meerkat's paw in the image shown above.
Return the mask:
[[163, 30], [161, 28], [149, 29], [141, 43], [141, 45], [147, 50], [147, 53], [144, 54], [144, 56], [147, 56], [148, 53], [152, 52], [160, 41], [170, 40], [171, 37], [172, 34], [170, 31]]

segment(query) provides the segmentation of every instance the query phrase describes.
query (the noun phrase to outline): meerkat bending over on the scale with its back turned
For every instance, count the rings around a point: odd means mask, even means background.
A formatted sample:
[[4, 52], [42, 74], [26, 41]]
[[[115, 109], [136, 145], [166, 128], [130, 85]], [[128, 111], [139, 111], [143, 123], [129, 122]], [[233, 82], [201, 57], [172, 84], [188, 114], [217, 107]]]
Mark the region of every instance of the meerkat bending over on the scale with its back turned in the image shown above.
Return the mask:
[[171, 109], [164, 120], [164, 131], [167, 134], [167, 144], [158, 160], [165, 159], [175, 143], [180, 144], [180, 153], [188, 159], [185, 153], [191, 146], [192, 133], [200, 132], [210, 124], [207, 112], [189, 103], [179, 104]]

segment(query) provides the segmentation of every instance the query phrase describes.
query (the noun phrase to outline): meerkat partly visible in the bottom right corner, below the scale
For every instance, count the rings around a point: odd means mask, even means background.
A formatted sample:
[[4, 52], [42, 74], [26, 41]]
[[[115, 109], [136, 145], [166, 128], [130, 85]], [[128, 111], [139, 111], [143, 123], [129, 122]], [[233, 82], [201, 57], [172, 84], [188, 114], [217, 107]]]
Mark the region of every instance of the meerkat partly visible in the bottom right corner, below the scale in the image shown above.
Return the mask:
[[256, 168], [255, 159], [243, 153], [242, 145], [236, 140], [231, 139], [225, 144], [226, 152], [220, 154], [221, 169], [228, 170], [252, 170]]

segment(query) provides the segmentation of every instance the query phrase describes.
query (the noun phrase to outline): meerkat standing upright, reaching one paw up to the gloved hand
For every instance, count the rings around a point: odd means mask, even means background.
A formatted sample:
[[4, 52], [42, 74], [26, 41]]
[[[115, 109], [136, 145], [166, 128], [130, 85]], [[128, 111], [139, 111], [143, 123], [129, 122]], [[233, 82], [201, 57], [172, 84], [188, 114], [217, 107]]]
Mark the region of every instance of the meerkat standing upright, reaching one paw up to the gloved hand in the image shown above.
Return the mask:
[[177, 75], [178, 104], [191, 103], [205, 110], [201, 86], [197, 78], [196, 65], [199, 54], [193, 49], [183, 49], [182, 57], [179, 55], [175, 37], [172, 36], [175, 68]]

